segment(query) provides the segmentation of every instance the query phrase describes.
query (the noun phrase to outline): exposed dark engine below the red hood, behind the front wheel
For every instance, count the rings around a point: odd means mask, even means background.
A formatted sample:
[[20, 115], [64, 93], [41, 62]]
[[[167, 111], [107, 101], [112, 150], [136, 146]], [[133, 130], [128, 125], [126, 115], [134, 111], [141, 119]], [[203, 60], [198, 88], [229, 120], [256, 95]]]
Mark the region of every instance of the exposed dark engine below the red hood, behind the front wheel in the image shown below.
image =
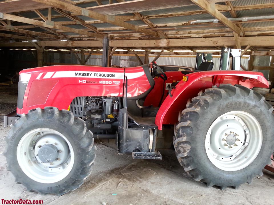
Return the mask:
[[70, 104], [74, 116], [82, 117], [93, 134], [112, 134], [117, 129], [118, 97], [76, 97]]

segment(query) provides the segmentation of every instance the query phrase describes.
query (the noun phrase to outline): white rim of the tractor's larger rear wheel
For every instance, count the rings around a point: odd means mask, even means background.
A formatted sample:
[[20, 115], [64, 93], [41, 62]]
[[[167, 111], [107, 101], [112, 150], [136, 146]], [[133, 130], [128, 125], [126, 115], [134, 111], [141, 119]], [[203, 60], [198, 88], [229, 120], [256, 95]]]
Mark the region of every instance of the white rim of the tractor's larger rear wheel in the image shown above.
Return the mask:
[[215, 167], [237, 171], [254, 161], [262, 141], [261, 126], [253, 115], [231, 111], [219, 116], [209, 127], [206, 154]]

